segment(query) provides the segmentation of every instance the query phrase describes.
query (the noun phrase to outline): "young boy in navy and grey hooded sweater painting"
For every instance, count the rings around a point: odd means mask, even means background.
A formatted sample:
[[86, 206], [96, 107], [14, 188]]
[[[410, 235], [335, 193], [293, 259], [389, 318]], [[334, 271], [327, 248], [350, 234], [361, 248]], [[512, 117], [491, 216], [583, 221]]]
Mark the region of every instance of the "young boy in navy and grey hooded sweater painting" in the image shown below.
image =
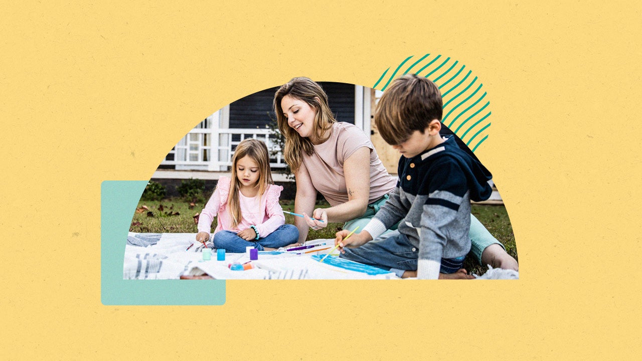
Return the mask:
[[[348, 230], [336, 233], [343, 258], [390, 269], [400, 277], [417, 270], [421, 279], [462, 268], [471, 249], [470, 200], [490, 197], [487, 181], [492, 176], [454, 137], [439, 135], [441, 118], [441, 94], [426, 78], [401, 76], [383, 93], [374, 121], [386, 143], [401, 153], [399, 180], [360, 233], [347, 239]], [[385, 233], [397, 222], [397, 231]]]

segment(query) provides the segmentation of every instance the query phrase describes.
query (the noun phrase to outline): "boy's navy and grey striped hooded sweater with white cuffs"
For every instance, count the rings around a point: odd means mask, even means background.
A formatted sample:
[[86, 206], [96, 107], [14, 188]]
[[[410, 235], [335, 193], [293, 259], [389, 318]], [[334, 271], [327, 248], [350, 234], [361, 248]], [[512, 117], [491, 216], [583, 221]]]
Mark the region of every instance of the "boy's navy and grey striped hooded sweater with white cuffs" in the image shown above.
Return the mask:
[[470, 200], [490, 197], [490, 172], [449, 137], [415, 157], [402, 156], [398, 173], [397, 188], [364, 230], [374, 239], [401, 220], [399, 232], [419, 249], [420, 265], [465, 256], [471, 249]]

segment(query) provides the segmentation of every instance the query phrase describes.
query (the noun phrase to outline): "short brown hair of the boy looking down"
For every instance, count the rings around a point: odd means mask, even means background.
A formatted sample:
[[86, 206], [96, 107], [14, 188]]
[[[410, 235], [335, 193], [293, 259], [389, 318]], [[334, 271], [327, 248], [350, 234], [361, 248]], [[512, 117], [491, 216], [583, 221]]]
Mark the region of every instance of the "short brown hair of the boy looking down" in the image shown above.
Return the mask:
[[441, 92], [435, 83], [416, 74], [396, 78], [383, 92], [374, 112], [374, 123], [390, 145], [399, 145], [415, 130], [422, 134], [433, 119], [441, 121]]

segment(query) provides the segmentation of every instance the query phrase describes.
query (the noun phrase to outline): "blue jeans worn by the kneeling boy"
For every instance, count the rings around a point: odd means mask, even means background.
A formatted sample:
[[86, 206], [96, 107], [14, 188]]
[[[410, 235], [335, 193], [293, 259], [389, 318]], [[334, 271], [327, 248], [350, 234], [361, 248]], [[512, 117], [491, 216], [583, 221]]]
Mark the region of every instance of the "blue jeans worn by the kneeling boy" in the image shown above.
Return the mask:
[[[390, 270], [399, 277], [406, 270], [417, 270], [419, 249], [408, 242], [408, 238], [399, 231], [384, 233], [361, 247], [344, 248], [344, 250], [345, 253], [340, 255], [341, 258]], [[461, 268], [458, 265], [463, 262], [464, 257], [442, 260], [439, 272], [456, 272]]]

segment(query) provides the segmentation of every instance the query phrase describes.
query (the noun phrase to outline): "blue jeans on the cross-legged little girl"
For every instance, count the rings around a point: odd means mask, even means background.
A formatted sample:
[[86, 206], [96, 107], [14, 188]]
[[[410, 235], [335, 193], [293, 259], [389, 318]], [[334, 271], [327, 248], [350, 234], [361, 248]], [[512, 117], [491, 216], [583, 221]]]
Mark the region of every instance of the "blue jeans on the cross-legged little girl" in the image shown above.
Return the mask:
[[259, 240], [246, 241], [232, 231], [214, 233], [214, 247], [225, 249], [226, 252], [243, 253], [245, 247], [254, 247], [263, 251], [264, 247], [279, 248], [291, 245], [299, 240], [299, 229], [291, 224], [284, 224], [276, 231]]

